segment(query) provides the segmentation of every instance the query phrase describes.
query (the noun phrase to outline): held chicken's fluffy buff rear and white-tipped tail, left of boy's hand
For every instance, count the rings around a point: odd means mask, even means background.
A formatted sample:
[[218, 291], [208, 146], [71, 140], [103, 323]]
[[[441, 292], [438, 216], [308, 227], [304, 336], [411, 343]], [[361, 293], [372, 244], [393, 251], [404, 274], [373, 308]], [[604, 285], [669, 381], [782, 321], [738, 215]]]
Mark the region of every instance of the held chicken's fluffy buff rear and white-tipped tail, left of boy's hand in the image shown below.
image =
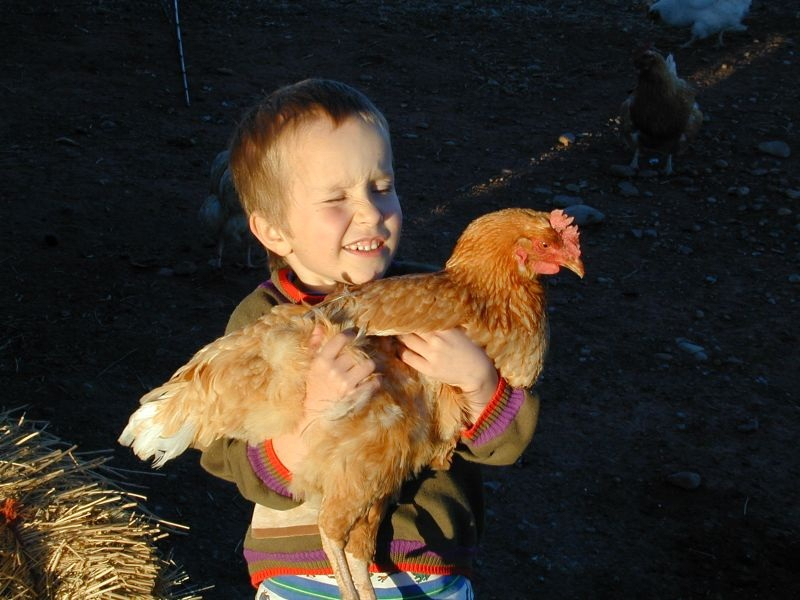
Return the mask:
[[306, 310], [276, 310], [201, 348], [142, 397], [119, 442], [160, 466], [190, 446], [220, 438], [258, 443], [294, 430], [314, 327], [297, 318]]

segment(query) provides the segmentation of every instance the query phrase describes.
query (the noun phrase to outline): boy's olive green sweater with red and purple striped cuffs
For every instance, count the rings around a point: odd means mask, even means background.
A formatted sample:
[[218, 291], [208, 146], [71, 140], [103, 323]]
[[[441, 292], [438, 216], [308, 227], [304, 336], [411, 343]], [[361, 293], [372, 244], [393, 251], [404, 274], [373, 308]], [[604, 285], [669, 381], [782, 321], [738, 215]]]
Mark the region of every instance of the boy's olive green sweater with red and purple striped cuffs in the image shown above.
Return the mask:
[[[319, 300], [297, 290], [287, 271], [275, 273], [234, 310], [226, 332], [252, 323], [277, 304]], [[425, 469], [403, 485], [381, 524], [371, 570], [471, 575], [483, 529], [480, 465], [512, 464], [530, 442], [538, 412], [535, 395], [501, 381], [484, 413], [463, 432], [451, 468]], [[276, 575], [332, 573], [314, 513], [291, 498], [291, 473], [269, 440], [259, 446], [219, 440], [203, 452], [201, 465], [234, 482], [255, 505], [244, 542], [254, 586]]]

